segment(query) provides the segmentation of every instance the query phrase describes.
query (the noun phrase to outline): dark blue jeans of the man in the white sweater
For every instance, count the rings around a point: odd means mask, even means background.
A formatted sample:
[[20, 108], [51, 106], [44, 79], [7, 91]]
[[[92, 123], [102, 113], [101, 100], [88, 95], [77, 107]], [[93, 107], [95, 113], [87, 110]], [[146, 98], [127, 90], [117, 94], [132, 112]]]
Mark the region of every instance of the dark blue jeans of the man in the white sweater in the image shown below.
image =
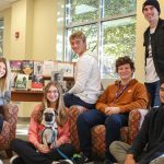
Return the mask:
[[72, 105], [80, 105], [80, 106], [83, 106], [89, 109], [95, 107], [95, 104], [85, 103], [80, 97], [78, 97], [73, 94], [70, 94], [70, 93], [67, 93], [63, 95], [63, 102], [65, 102], [66, 107], [71, 107]]

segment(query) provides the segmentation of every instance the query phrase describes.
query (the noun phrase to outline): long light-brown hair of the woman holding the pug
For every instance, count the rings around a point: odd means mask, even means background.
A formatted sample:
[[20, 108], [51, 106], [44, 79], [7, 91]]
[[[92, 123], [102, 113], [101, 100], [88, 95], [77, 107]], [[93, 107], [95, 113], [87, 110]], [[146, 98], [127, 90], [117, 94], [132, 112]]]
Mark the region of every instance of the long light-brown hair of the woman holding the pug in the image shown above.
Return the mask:
[[60, 127], [62, 127], [66, 124], [66, 121], [68, 120], [68, 117], [67, 117], [66, 107], [65, 107], [65, 104], [63, 104], [62, 90], [61, 90], [60, 84], [57, 83], [57, 82], [49, 82], [45, 86], [42, 107], [40, 107], [39, 112], [37, 114], [35, 113], [34, 115], [32, 115], [32, 117], [34, 117], [34, 119], [38, 124], [40, 124], [42, 118], [43, 118], [43, 113], [44, 113], [45, 108], [50, 106], [50, 102], [47, 99], [47, 93], [48, 93], [49, 87], [51, 85], [57, 87], [57, 91], [59, 93], [59, 97], [58, 97], [57, 103], [56, 103], [56, 112], [58, 113], [58, 115], [57, 115], [57, 124]]

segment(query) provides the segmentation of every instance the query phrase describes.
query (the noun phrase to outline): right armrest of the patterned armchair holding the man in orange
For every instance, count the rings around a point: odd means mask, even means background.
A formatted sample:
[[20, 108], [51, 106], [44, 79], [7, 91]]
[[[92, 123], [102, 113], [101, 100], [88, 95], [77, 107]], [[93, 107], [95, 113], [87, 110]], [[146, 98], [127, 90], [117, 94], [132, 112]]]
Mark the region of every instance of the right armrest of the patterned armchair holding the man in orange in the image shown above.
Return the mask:
[[144, 116], [148, 114], [149, 109], [133, 109], [129, 114], [129, 138], [128, 143], [131, 144], [137, 137], [141, 125], [143, 122]]

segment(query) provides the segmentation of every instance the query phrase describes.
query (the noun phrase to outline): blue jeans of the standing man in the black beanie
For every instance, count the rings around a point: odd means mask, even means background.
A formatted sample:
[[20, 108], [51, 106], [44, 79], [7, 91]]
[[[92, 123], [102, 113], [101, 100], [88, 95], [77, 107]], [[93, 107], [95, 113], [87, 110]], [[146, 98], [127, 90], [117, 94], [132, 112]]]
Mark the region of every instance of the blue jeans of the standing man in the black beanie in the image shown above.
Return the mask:
[[161, 82], [160, 80], [153, 83], [144, 83], [144, 84], [150, 95], [151, 107], [161, 106], [161, 101], [160, 101]]

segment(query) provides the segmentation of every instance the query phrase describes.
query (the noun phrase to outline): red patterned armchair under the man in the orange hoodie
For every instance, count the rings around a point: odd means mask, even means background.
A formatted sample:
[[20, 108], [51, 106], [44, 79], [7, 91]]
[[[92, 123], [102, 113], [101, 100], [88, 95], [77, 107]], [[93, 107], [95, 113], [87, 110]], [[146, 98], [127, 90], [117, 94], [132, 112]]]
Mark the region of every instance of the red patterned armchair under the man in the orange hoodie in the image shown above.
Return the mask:
[[[130, 112], [128, 127], [122, 127], [120, 129], [122, 141], [127, 143], [131, 143], [133, 141], [147, 113], [148, 109], [133, 109]], [[69, 109], [71, 141], [77, 151], [80, 151], [80, 143], [75, 125], [78, 115], [79, 110], [77, 106], [72, 106]], [[93, 153], [102, 157], [105, 155], [105, 131], [106, 130], [104, 125], [96, 126], [92, 129]]]

